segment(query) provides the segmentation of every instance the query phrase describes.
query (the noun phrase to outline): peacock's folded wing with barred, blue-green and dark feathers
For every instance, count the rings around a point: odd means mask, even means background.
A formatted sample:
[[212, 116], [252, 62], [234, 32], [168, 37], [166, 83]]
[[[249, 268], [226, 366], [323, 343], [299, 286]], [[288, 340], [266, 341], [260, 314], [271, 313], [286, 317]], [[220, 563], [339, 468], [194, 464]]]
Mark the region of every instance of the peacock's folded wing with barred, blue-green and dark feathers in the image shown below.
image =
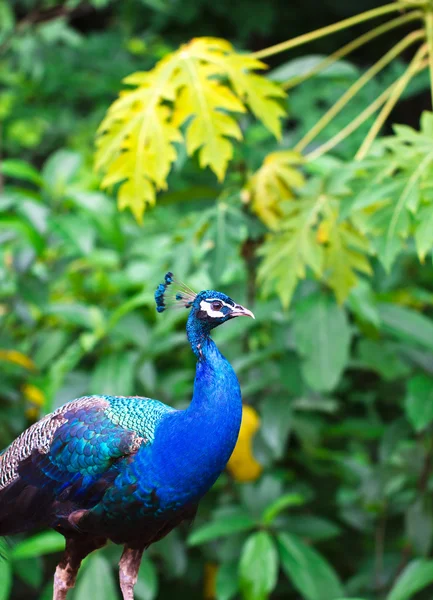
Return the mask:
[[108, 397], [86, 396], [47, 415], [0, 455], [0, 535], [97, 504], [116, 465], [146, 437], [111, 416]]

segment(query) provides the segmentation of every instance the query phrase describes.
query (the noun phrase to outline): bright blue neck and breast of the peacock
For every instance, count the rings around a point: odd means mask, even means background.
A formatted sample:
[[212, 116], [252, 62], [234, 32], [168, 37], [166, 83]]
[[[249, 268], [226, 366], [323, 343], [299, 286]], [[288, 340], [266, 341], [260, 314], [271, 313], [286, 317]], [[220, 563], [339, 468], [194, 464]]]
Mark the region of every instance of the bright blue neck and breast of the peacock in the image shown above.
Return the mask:
[[122, 497], [122, 510], [129, 504], [133, 512], [164, 514], [198, 501], [224, 470], [239, 434], [241, 392], [231, 365], [209, 343], [190, 406], [162, 415], [153, 442], [123, 465], [104, 499], [108, 512], [117, 512]]

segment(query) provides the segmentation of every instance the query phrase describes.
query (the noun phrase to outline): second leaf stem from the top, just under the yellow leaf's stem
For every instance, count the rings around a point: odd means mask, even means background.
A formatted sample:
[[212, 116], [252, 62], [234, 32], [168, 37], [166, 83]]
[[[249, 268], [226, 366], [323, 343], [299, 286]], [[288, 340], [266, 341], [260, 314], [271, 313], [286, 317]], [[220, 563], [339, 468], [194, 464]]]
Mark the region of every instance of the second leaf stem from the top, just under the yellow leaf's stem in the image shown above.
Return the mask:
[[332, 54], [330, 54], [329, 56], [324, 58], [322, 61], [320, 61], [320, 63], [318, 63], [313, 69], [311, 69], [307, 73], [304, 73], [303, 75], [299, 75], [297, 77], [292, 77], [292, 79], [289, 79], [288, 81], [283, 83], [282, 87], [285, 90], [294, 88], [295, 86], [306, 81], [307, 79], [310, 79], [310, 77], [313, 77], [314, 75], [317, 75], [317, 73], [320, 73], [321, 71], [325, 70], [327, 67], [334, 64], [337, 60], [340, 60], [344, 56], [347, 56], [348, 54], [350, 54], [357, 48], [360, 48], [364, 44], [371, 42], [372, 40], [379, 37], [380, 35], [383, 35], [384, 33], [387, 33], [388, 31], [391, 31], [392, 29], [395, 29], [396, 27], [405, 25], [406, 23], [409, 23], [410, 21], [414, 21], [415, 19], [422, 19], [422, 18], [423, 18], [422, 11], [413, 10], [409, 13], [406, 13], [405, 15], [402, 15], [401, 17], [397, 17], [396, 19], [393, 19], [392, 21], [383, 23], [383, 25], [379, 25], [378, 27], [375, 27], [374, 29], [368, 31], [367, 33], [364, 33], [363, 35], [359, 36], [355, 40], [352, 40], [345, 46], [342, 46], [339, 50], [336, 50], [335, 52], [333, 52]]

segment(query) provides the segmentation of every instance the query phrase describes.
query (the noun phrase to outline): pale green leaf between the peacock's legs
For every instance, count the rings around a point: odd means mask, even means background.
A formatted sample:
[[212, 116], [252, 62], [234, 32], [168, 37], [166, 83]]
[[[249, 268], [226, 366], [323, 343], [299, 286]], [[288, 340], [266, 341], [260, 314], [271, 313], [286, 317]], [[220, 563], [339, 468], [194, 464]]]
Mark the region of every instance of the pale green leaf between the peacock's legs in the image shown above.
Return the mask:
[[74, 600], [118, 600], [118, 586], [110, 565], [100, 553], [91, 554], [83, 566], [78, 575]]

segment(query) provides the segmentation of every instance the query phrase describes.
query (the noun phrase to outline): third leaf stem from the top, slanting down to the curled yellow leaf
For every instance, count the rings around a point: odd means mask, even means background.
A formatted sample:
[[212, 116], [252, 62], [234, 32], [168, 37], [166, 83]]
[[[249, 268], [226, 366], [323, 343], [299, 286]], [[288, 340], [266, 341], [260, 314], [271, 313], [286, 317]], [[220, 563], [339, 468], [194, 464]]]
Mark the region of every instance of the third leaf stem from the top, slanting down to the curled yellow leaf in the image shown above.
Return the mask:
[[346, 106], [350, 100], [386, 65], [396, 58], [403, 50], [424, 36], [424, 31], [412, 31], [404, 37], [398, 44], [382, 56], [372, 67], [370, 67], [350, 88], [331, 106], [321, 119], [308, 131], [304, 137], [296, 144], [295, 150], [301, 152]]

